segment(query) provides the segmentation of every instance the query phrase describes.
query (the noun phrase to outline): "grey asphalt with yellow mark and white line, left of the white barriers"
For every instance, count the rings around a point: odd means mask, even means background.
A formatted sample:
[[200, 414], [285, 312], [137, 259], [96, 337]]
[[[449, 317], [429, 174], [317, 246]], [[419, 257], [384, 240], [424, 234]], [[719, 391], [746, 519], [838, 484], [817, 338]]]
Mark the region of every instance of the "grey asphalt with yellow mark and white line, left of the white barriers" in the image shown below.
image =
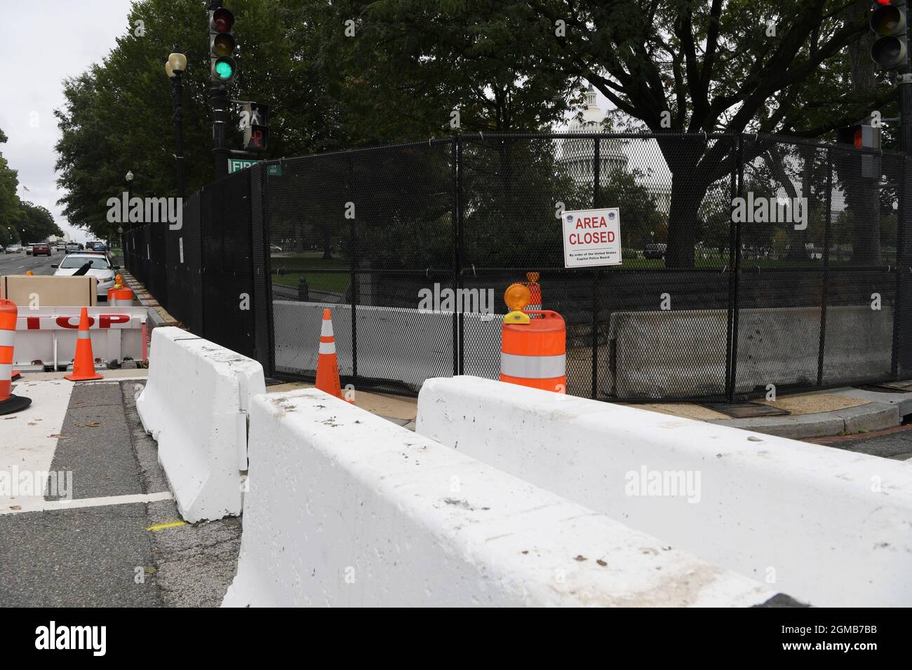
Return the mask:
[[[136, 410], [142, 383], [73, 388], [50, 468], [68, 474], [73, 504], [0, 514], [0, 606], [222, 603], [237, 569], [239, 518], [187, 524], [174, 500], [85, 504], [168, 491], [157, 445]], [[0, 444], [17, 420], [25, 419], [0, 422]], [[46, 487], [37, 498], [57, 497]]]

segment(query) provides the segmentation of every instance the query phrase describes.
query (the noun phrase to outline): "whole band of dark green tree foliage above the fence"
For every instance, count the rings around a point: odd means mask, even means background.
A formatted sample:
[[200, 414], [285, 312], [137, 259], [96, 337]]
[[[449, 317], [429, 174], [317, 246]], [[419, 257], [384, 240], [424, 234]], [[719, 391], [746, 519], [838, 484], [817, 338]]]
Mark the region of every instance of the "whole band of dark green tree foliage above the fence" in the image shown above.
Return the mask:
[[[895, 88], [875, 74], [865, 53], [867, 0], [233, 0], [230, 6], [239, 43], [232, 97], [272, 110], [264, 158], [440, 138], [454, 132], [457, 118], [465, 133], [552, 129], [591, 83], [616, 108], [617, 129], [658, 137], [672, 181], [662, 232], [671, 266], [693, 263], [702, 202], [731, 169], [734, 145], [708, 141], [704, 133], [827, 137], [875, 109], [887, 117], [895, 108]], [[136, 175], [136, 194], [175, 191], [171, 82], [163, 70], [172, 45], [189, 61], [187, 192], [212, 180], [205, 21], [199, 0], [135, 2], [109, 56], [66, 82], [67, 103], [57, 111], [57, 168], [72, 222], [109, 233], [104, 203], [123, 190], [127, 170]], [[681, 134], [691, 139], [682, 141]], [[885, 139], [888, 147], [894, 134], [887, 130]], [[757, 145], [757, 151], [745, 158], [765, 149]], [[501, 160], [503, 180], [509, 171]], [[636, 180], [627, 186], [639, 188]]]

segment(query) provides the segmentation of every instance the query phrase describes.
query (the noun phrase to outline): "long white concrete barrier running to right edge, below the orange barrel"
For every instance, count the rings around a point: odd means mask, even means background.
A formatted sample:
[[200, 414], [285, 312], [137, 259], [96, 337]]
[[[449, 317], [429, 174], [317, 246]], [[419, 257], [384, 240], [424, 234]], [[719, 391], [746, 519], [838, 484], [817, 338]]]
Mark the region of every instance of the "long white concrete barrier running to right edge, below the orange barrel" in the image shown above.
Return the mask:
[[912, 468], [488, 379], [430, 379], [417, 432], [815, 605], [912, 605]]

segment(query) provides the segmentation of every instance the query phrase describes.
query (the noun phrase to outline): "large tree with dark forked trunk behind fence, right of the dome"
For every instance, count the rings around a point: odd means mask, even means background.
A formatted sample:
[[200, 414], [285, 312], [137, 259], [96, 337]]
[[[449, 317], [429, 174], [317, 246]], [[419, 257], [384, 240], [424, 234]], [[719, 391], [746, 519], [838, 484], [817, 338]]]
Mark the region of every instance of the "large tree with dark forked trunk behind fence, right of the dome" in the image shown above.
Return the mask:
[[[518, 24], [523, 29], [513, 38], [530, 45], [539, 67], [586, 78], [640, 127], [658, 134], [674, 178], [669, 266], [692, 266], [700, 202], [710, 184], [731, 169], [734, 145], [707, 141], [703, 133], [817, 137], [854, 123], [895, 95], [886, 81], [872, 96], [845, 94], [842, 82], [825, 79], [840, 69], [834, 64], [845, 62], [845, 46], [866, 33], [865, 17], [857, 10], [869, 8], [865, 0], [522, 5], [528, 20]], [[536, 28], [529, 30], [530, 25]], [[812, 99], [817, 108], [808, 114], [805, 103]], [[681, 140], [682, 132], [694, 137]]]

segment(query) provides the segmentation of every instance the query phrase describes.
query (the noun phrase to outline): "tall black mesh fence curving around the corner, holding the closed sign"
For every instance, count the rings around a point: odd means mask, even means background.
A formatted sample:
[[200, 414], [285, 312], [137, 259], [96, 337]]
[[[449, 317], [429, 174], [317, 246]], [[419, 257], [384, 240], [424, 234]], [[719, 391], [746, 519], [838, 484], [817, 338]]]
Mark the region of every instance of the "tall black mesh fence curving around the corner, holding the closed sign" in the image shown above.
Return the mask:
[[[243, 170], [189, 199], [182, 231], [128, 232], [126, 257], [270, 376], [314, 378], [329, 307], [344, 384], [497, 378], [503, 291], [535, 272], [568, 393], [734, 401], [912, 376], [907, 170], [763, 135], [432, 139]], [[601, 207], [623, 263], [565, 268], [562, 212]]]

